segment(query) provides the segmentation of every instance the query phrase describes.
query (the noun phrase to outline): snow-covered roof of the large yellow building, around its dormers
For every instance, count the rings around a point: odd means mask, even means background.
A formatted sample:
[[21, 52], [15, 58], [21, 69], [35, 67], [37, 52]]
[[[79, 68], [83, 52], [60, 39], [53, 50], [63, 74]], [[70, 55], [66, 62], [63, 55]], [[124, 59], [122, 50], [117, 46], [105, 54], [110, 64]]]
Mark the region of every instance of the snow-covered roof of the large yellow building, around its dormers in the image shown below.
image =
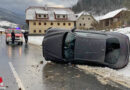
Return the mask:
[[36, 20], [36, 14], [48, 14], [50, 21], [56, 21], [54, 14], [67, 15], [68, 21], [76, 21], [71, 9], [60, 7], [29, 7], [26, 9], [26, 20]]

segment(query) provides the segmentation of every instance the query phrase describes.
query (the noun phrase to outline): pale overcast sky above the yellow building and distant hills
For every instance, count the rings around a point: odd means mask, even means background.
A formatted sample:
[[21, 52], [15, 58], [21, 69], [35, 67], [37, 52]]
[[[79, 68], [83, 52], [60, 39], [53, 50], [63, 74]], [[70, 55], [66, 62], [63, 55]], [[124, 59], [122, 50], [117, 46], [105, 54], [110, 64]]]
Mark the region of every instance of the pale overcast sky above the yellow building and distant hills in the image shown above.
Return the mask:
[[24, 13], [29, 6], [59, 6], [71, 7], [78, 0], [0, 0], [0, 7], [16, 13]]

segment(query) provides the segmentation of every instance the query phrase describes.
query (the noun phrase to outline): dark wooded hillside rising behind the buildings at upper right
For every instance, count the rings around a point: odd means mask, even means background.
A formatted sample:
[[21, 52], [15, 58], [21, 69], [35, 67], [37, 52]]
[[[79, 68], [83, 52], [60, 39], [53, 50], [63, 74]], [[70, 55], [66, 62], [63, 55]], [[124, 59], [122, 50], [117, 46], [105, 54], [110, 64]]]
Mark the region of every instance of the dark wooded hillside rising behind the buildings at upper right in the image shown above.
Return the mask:
[[102, 15], [124, 7], [124, 3], [125, 0], [79, 0], [72, 9], [76, 13], [85, 10], [94, 15]]

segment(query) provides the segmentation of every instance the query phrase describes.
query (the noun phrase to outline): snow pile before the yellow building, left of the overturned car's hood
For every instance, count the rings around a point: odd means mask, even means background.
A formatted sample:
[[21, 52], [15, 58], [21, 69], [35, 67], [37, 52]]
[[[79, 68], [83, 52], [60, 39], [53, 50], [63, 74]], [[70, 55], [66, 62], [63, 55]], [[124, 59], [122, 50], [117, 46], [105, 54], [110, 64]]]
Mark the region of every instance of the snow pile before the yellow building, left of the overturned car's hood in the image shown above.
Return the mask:
[[29, 43], [34, 45], [42, 45], [44, 36], [29, 36]]

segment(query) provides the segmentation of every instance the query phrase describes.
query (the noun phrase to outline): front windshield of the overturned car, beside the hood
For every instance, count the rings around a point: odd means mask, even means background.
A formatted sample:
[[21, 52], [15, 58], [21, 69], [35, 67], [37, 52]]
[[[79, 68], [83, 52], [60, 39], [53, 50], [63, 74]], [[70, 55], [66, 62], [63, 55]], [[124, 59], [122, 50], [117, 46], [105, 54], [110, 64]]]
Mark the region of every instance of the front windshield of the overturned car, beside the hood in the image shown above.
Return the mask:
[[64, 40], [64, 58], [65, 59], [74, 58], [74, 45], [75, 45], [75, 34], [67, 33]]

